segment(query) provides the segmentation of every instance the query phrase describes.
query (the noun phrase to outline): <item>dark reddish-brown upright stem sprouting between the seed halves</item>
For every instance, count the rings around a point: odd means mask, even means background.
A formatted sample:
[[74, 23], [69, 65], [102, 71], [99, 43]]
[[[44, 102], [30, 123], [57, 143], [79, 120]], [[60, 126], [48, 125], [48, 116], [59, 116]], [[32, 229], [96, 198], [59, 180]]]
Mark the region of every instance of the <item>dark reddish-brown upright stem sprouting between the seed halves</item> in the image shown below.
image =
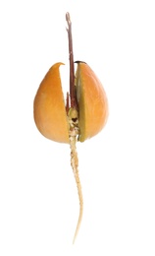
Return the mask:
[[74, 66], [74, 50], [73, 50], [73, 37], [72, 37], [72, 22], [70, 14], [66, 14], [66, 21], [68, 23], [68, 37], [69, 37], [69, 59], [70, 59], [70, 98], [71, 107], [78, 109], [78, 100], [75, 87], [75, 66]]

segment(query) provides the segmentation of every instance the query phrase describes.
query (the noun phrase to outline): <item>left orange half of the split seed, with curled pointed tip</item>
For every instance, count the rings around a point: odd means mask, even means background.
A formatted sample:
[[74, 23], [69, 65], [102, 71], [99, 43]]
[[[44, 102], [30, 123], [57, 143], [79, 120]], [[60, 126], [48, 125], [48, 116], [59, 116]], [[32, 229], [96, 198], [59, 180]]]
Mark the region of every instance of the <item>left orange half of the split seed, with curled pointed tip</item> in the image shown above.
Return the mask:
[[42, 80], [34, 98], [34, 121], [40, 133], [56, 142], [69, 143], [69, 125], [59, 67], [53, 65]]

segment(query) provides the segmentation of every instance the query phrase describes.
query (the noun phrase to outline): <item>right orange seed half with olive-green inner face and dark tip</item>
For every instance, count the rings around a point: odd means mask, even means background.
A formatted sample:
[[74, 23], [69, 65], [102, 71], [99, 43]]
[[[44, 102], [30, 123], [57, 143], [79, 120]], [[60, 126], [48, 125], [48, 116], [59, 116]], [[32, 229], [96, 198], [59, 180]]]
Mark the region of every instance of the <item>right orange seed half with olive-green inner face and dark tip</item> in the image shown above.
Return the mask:
[[78, 63], [76, 86], [79, 107], [80, 142], [95, 136], [104, 127], [108, 101], [101, 82], [85, 63]]

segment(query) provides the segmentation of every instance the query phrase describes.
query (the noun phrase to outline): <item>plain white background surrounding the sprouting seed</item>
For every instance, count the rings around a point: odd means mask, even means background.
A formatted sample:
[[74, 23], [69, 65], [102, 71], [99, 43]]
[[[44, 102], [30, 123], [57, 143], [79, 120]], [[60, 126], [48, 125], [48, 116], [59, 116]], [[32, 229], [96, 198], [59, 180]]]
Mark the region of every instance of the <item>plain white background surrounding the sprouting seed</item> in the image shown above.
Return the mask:
[[[84, 215], [69, 145], [45, 139], [33, 98], [50, 66], [75, 60], [102, 81], [110, 115], [78, 143]], [[65, 93], [66, 94], [66, 93]], [[0, 255], [155, 255], [154, 1], [1, 1]]]

